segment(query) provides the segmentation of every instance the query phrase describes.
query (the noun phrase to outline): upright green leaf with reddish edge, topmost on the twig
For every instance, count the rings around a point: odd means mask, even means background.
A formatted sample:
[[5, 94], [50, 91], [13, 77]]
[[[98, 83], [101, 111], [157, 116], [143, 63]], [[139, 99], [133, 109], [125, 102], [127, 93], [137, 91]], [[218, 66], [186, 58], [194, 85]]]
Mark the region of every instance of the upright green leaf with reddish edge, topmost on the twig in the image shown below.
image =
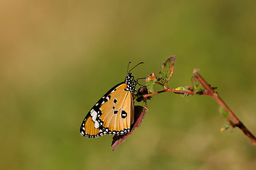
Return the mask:
[[169, 81], [169, 78], [172, 77], [175, 59], [175, 55], [171, 56], [160, 66], [159, 74], [162, 79], [165, 79], [165, 81]]

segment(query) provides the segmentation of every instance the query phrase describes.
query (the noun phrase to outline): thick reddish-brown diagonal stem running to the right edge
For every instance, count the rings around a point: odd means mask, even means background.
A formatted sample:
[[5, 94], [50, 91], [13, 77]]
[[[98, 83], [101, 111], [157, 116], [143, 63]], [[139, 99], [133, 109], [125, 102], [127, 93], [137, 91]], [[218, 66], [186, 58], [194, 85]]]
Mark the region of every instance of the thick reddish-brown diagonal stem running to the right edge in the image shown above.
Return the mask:
[[211, 86], [209, 86], [209, 84], [203, 79], [203, 77], [201, 77], [201, 75], [196, 71], [194, 71], [194, 77], [204, 86], [206, 91], [208, 91], [208, 96], [211, 96], [218, 103], [219, 106], [223, 107], [228, 112], [227, 119], [230, 125], [232, 125], [233, 128], [240, 128], [245, 136], [247, 136], [249, 140], [252, 141], [252, 144], [256, 146], [256, 138], [254, 135], [252, 135], [252, 132], [250, 132], [250, 130], [248, 130], [245, 125], [243, 125], [243, 123], [238, 119], [238, 117], [236, 117], [233, 111], [228, 108], [226, 103], [224, 103], [224, 101], [218, 96], [218, 94], [213, 91]]

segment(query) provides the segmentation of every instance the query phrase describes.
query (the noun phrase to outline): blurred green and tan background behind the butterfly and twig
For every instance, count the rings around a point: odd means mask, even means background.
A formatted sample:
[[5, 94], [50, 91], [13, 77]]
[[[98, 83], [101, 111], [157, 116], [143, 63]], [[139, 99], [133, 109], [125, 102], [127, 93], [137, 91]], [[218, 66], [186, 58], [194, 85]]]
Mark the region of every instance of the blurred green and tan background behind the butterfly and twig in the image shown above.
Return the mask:
[[146, 77], [177, 55], [169, 86], [201, 69], [256, 135], [255, 18], [256, 1], [0, 1], [0, 169], [255, 169], [208, 96], [155, 96], [114, 152], [79, 134], [128, 62]]

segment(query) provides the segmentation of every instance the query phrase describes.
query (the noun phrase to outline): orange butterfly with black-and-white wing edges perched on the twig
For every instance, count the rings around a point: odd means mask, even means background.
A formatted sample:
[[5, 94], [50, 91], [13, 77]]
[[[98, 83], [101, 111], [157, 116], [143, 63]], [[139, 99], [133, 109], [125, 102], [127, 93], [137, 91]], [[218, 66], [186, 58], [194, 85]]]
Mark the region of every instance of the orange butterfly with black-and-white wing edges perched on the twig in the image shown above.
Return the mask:
[[80, 127], [82, 136], [93, 138], [130, 132], [134, 121], [134, 92], [138, 84], [130, 71], [123, 82], [113, 86], [87, 113]]

